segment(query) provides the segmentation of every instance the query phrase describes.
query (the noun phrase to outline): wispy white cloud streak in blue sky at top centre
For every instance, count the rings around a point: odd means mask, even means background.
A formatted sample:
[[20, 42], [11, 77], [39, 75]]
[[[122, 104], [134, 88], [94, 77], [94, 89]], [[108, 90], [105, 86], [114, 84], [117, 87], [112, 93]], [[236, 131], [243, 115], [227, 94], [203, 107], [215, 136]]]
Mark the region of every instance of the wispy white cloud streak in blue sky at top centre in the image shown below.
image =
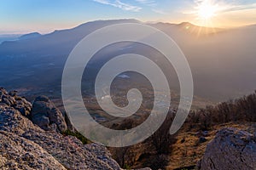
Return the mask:
[[[120, 0], [93, 0], [93, 1], [96, 3], [102, 3], [105, 5], [111, 5], [116, 8], [121, 8], [126, 11], [138, 12], [142, 9], [141, 7], [137, 7], [137, 6], [128, 4], [128, 3], [122, 3]], [[143, 1], [143, 0], [141, 0], [141, 1]]]

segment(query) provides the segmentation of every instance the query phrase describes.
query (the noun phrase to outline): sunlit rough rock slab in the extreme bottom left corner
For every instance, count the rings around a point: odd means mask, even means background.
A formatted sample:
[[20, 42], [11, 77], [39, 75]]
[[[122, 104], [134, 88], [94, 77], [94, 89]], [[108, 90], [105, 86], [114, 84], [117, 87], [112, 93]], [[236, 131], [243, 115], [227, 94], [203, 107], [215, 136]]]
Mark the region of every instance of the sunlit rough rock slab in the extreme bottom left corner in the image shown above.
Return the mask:
[[34, 142], [0, 130], [0, 169], [66, 169]]

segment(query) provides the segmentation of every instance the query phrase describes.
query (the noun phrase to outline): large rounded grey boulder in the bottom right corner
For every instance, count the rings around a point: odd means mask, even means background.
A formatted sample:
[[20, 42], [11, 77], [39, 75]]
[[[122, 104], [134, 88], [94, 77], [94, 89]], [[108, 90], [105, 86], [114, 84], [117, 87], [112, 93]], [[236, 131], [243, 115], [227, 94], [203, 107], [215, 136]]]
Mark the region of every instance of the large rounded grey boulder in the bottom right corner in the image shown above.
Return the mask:
[[220, 130], [198, 164], [201, 170], [236, 170], [256, 168], [256, 139], [236, 128]]

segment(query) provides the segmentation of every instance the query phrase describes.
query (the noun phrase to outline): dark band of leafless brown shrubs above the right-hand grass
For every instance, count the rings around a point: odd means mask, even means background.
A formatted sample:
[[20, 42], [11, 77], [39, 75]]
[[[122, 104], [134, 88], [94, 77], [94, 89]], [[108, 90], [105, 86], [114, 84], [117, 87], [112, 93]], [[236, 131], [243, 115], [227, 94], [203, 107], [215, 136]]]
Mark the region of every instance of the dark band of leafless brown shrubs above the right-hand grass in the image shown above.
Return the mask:
[[241, 99], [191, 111], [187, 120], [191, 128], [199, 127], [201, 130], [226, 122], [256, 122], [256, 91]]

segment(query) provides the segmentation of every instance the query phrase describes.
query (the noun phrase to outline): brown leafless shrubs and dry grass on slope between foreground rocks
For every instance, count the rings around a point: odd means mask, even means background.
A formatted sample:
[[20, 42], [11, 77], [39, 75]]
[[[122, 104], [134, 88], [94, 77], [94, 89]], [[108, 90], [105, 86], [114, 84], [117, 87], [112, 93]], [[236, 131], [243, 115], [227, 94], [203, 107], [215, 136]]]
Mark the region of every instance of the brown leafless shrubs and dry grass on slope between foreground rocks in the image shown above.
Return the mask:
[[110, 149], [114, 159], [122, 167], [193, 168], [218, 129], [238, 127], [247, 130], [247, 127], [253, 127], [256, 122], [256, 91], [241, 99], [191, 111], [182, 129], [171, 136], [169, 128], [174, 116], [170, 111], [160, 129], [142, 144]]

